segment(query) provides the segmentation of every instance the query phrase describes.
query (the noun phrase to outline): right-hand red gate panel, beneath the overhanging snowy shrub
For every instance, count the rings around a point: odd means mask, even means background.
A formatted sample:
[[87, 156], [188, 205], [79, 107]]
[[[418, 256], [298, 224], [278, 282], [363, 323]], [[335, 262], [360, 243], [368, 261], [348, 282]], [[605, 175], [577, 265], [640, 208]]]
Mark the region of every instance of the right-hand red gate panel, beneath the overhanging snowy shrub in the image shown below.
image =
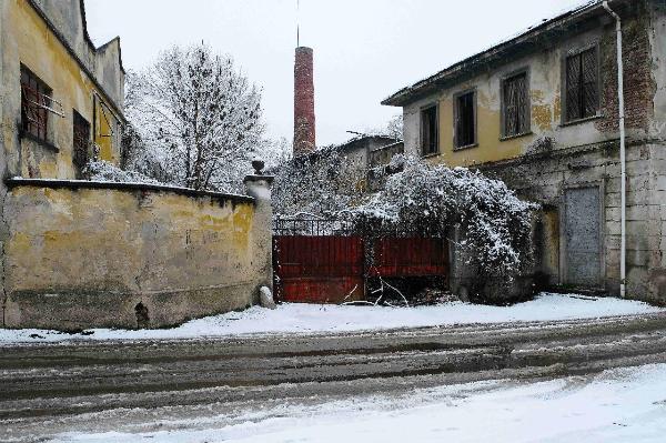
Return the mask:
[[438, 276], [446, 275], [448, 252], [442, 239], [389, 238], [374, 243], [372, 275]]

